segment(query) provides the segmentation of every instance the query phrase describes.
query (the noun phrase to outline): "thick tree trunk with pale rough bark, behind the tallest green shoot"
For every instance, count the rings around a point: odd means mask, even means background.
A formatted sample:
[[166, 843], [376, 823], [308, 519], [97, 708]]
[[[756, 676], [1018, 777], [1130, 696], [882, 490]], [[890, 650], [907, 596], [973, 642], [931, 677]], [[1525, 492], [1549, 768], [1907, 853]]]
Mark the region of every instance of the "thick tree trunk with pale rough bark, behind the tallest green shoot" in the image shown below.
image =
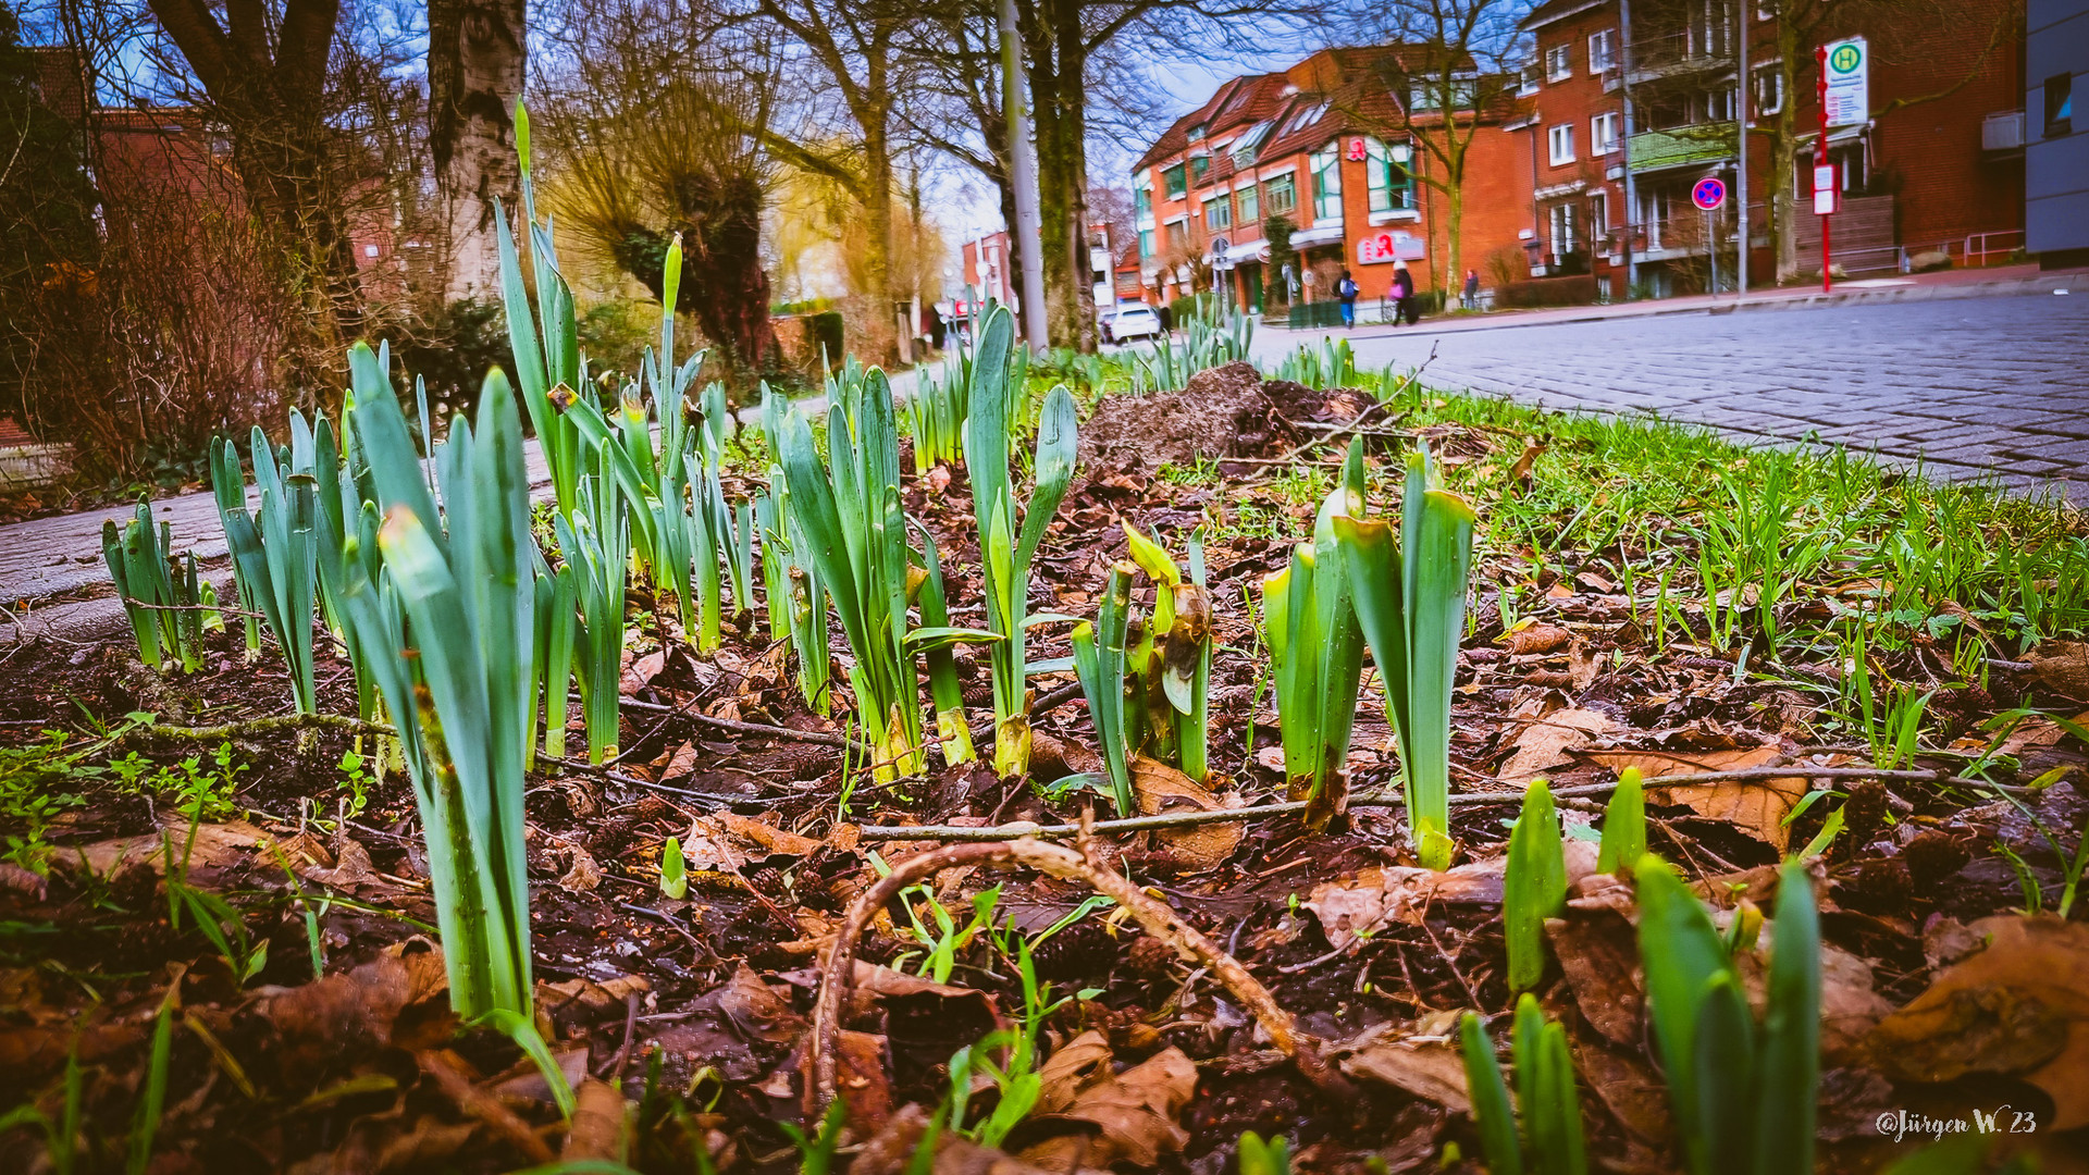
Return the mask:
[[520, 201], [514, 105], [526, 38], [522, 0], [428, 0], [428, 153], [449, 228], [451, 299], [499, 286], [493, 201]]

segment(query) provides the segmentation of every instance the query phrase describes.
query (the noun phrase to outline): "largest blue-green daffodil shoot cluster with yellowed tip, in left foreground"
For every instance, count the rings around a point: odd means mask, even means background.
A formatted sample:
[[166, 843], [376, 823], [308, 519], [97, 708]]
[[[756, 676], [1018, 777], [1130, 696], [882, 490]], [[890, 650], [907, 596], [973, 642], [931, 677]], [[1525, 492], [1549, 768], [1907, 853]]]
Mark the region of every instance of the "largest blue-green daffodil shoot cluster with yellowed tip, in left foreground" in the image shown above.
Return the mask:
[[[437, 454], [437, 510], [399, 399], [370, 347], [349, 351], [355, 431], [368, 456], [384, 569], [359, 539], [324, 550], [341, 606], [372, 661], [414, 782], [449, 997], [460, 1016], [531, 1014], [524, 863], [535, 546], [522, 422], [506, 376], [487, 376], [478, 424]], [[447, 525], [445, 525], [447, 523]]]

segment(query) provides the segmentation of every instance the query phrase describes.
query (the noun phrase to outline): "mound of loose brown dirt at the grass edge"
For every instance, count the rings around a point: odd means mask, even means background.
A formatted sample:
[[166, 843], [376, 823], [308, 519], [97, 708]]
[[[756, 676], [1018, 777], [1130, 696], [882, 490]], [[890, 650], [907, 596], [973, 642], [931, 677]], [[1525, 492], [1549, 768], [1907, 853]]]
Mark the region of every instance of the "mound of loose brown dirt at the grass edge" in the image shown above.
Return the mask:
[[1197, 458], [1274, 456], [1306, 437], [1297, 422], [1349, 422], [1368, 404], [1360, 391], [1264, 383], [1253, 364], [1224, 364], [1193, 374], [1182, 391], [1103, 399], [1080, 424], [1080, 468], [1151, 473]]

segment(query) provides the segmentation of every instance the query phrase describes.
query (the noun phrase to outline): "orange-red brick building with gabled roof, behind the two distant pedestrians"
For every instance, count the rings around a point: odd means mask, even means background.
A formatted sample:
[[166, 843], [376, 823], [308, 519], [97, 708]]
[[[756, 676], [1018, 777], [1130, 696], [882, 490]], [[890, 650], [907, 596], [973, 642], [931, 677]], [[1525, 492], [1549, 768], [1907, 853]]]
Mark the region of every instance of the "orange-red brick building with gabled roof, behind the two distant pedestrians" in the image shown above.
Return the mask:
[[[1395, 261], [1408, 263], [1416, 289], [1439, 284], [1450, 211], [1412, 138], [1429, 132], [1429, 119], [1406, 117], [1387, 84], [1406, 73], [1402, 54], [1416, 52], [1320, 50], [1281, 73], [1233, 77], [1176, 119], [1132, 169], [1147, 301], [1210, 289], [1251, 309], [1327, 301], [1349, 270], [1368, 303], [1385, 297]], [[1466, 266], [1487, 243], [1515, 240], [1521, 222], [1515, 163], [1523, 142], [1508, 121], [1506, 107], [1487, 109], [1473, 132], [1460, 230]], [[1412, 130], [1391, 130], [1402, 125]], [[1289, 272], [1270, 270], [1274, 217], [1293, 226]]]

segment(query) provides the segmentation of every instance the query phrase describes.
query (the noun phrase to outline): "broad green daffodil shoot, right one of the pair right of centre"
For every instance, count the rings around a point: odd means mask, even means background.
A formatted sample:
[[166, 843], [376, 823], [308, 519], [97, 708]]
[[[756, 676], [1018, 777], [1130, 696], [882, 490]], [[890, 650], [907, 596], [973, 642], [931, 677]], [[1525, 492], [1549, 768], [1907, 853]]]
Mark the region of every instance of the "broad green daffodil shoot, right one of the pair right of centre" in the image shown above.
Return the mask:
[[[1400, 742], [1408, 834], [1423, 866], [1450, 866], [1450, 698], [1473, 575], [1473, 506], [1433, 485], [1429, 452], [1408, 458], [1400, 542], [1383, 519], [1335, 514], [1356, 617], [1385, 682]], [[1362, 506], [1362, 504], [1360, 504]]]

